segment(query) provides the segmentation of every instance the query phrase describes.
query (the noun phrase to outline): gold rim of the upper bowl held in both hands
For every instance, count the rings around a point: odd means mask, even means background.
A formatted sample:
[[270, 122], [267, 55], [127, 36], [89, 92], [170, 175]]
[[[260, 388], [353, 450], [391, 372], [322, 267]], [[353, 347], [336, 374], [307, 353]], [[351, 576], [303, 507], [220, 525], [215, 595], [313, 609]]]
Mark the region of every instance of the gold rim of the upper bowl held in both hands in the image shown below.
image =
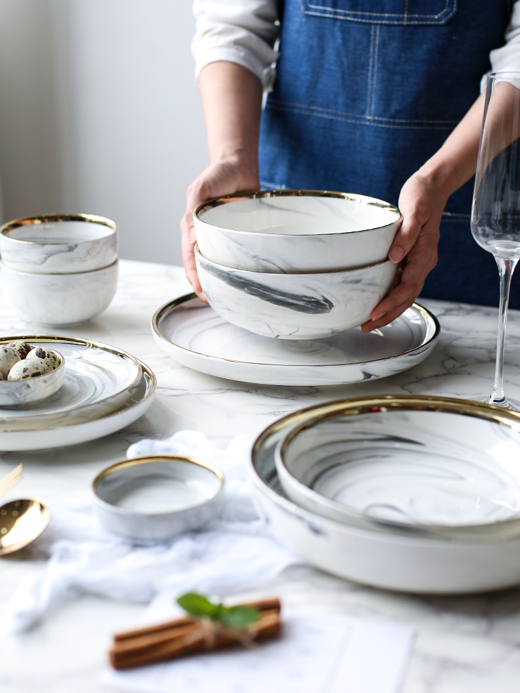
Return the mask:
[[[380, 207], [381, 209], [387, 209], [388, 211], [395, 212], [397, 214], [397, 219], [390, 222], [390, 224], [385, 224], [384, 226], [377, 226], [372, 229], [360, 229], [359, 231], [345, 231], [348, 234], [362, 234], [365, 231], [374, 231], [375, 229], [385, 229], [389, 226], [402, 220], [403, 215], [401, 211], [394, 207], [390, 202], [385, 202], [384, 200], [379, 200], [378, 198], [371, 198], [368, 195], [357, 195], [356, 193], [339, 193], [330, 190], [261, 190], [254, 191], [252, 193], [234, 193], [233, 195], [223, 195], [221, 198], [215, 198], [214, 200], [209, 200], [208, 202], [203, 202], [197, 209], [193, 212], [193, 216], [202, 222], [202, 224], [207, 224], [199, 213], [202, 210], [207, 211], [208, 209], [214, 209], [214, 207], [220, 207], [221, 204], [229, 204], [229, 202], [241, 202], [241, 200], [256, 200], [259, 198], [297, 198], [297, 197], [309, 197], [309, 198], [336, 198], [340, 200], [352, 200], [352, 202], [363, 202], [363, 204], [371, 205], [372, 207]], [[213, 226], [212, 224], [207, 224], [208, 226]], [[225, 229], [225, 231], [234, 231], [234, 229]], [[235, 233], [243, 234], [259, 234], [259, 231], [235, 231]], [[265, 236], [266, 234], [261, 234]], [[276, 234], [277, 236], [288, 236], [289, 234]], [[300, 237], [313, 236], [314, 234], [301, 234]], [[340, 234], [320, 234], [320, 236], [338, 236]], [[291, 236], [292, 237], [292, 236]]]

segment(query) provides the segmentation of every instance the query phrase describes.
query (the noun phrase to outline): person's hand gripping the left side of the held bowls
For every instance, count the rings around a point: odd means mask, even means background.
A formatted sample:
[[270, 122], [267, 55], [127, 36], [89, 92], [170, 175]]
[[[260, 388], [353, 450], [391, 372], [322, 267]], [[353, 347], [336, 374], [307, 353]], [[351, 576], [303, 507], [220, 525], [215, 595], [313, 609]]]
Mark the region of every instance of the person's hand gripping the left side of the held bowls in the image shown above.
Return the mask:
[[[210, 164], [188, 188], [186, 212], [180, 221], [182, 234], [182, 263], [189, 283], [202, 301], [206, 301], [200, 286], [195, 265], [195, 229], [193, 211], [197, 207], [220, 198], [222, 195], [259, 190], [260, 183], [256, 167], [243, 164], [238, 159], [225, 159]], [[207, 302], [207, 301], [206, 301]]]

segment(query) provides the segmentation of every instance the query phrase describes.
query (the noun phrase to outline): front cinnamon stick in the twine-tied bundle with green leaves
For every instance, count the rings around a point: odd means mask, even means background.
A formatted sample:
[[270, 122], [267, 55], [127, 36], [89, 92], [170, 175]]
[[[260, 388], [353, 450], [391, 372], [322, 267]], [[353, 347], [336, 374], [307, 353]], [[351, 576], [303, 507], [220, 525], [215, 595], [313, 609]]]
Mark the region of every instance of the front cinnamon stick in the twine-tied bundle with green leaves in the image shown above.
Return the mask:
[[[188, 619], [179, 619], [187, 621]], [[149, 664], [164, 662], [177, 657], [193, 654], [209, 649], [207, 639], [204, 636], [204, 628], [200, 622], [191, 621], [181, 626], [174, 626], [165, 631], [132, 636], [116, 640], [110, 651], [110, 663], [114, 669], [130, 669], [143, 667]], [[197, 632], [200, 638], [197, 639]], [[137, 633], [139, 631], [132, 631]], [[281, 632], [281, 622], [277, 609], [262, 611], [261, 618], [241, 629], [241, 633], [250, 640], [265, 640], [275, 638]], [[196, 638], [196, 639], [194, 639]], [[220, 649], [237, 644], [239, 639], [232, 629], [217, 629], [214, 634], [214, 642], [211, 649]]]

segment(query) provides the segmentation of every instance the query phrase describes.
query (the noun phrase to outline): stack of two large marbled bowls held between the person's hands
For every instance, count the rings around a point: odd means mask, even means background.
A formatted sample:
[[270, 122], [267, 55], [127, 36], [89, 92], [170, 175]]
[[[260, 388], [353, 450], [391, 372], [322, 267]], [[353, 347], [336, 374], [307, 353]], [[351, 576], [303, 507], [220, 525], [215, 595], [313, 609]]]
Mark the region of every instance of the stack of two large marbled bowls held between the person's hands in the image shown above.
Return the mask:
[[363, 324], [395, 283], [396, 207], [364, 195], [228, 195], [193, 213], [196, 264], [218, 315], [266, 337], [326, 337]]

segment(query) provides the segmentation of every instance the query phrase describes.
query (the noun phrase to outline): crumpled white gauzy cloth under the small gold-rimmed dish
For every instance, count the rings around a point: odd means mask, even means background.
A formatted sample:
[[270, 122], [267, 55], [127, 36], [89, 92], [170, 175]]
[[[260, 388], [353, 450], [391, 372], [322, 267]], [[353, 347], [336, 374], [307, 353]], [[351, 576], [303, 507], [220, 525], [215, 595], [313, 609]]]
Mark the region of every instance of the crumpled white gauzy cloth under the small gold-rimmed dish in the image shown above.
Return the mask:
[[[51, 507], [41, 541], [49, 545], [43, 574], [19, 584], [3, 615], [3, 629], [19, 633], [80, 593], [150, 604], [172, 602], [187, 591], [225, 597], [261, 586], [288, 565], [301, 563], [271, 538], [252, 504], [247, 456], [252, 437], [236, 436], [226, 450], [196, 431], [165, 441], [141, 440], [127, 457], [173, 453], [216, 464], [225, 475], [223, 512], [200, 531], [164, 543], [139, 543], [112, 534], [92, 507]], [[160, 620], [160, 618], [159, 618]]]

